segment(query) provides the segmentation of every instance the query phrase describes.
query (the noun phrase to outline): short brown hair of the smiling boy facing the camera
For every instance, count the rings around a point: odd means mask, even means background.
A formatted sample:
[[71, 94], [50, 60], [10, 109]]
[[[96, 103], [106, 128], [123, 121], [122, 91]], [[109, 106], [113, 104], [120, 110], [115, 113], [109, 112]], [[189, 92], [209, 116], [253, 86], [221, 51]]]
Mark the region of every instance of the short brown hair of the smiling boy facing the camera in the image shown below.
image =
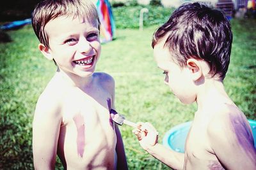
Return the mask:
[[49, 39], [45, 32], [45, 25], [54, 18], [84, 17], [93, 24], [95, 20], [100, 27], [99, 16], [95, 5], [88, 0], [45, 0], [38, 3], [32, 13], [32, 25], [40, 43], [49, 48]]

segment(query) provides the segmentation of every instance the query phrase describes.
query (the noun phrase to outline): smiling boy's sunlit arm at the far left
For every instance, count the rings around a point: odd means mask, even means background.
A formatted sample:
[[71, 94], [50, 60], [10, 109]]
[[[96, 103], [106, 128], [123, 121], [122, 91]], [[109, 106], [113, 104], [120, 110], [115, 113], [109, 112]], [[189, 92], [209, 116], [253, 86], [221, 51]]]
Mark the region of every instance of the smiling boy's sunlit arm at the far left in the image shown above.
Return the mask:
[[54, 169], [61, 118], [52, 99], [40, 97], [33, 119], [33, 162], [35, 169]]

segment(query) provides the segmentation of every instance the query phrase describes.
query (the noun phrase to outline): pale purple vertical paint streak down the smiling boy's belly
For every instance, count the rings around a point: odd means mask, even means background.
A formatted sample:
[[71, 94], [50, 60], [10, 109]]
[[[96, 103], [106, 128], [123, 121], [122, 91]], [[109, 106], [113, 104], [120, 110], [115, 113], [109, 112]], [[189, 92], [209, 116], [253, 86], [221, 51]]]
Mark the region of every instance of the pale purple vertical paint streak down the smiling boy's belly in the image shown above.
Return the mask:
[[76, 124], [76, 129], [77, 129], [77, 138], [76, 138], [76, 143], [77, 143], [77, 153], [81, 157], [83, 157], [84, 153], [84, 118], [82, 115], [76, 115], [73, 118], [75, 124]]

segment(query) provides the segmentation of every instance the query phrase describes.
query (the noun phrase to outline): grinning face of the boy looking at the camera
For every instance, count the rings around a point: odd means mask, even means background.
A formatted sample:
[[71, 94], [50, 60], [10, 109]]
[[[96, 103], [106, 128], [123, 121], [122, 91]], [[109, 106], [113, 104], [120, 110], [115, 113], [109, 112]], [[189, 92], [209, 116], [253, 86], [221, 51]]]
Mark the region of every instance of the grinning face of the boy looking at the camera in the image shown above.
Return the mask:
[[70, 76], [92, 75], [101, 49], [97, 20], [90, 24], [78, 17], [58, 17], [45, 25], [45, 32], [49, 36], [48, 59], [54, 59]]

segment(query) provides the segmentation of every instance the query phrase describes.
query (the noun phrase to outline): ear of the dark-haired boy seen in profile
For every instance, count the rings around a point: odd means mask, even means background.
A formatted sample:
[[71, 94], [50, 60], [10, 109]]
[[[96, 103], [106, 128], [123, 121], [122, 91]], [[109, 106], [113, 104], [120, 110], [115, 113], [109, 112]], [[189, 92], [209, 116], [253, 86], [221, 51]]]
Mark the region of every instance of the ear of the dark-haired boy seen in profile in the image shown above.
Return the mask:
[[202, 76], [202, 66], [200, 61], [196, 59], [188, 59], [186, 62], [189, 72], [192, 75], [194, 81], [198, 80]]

